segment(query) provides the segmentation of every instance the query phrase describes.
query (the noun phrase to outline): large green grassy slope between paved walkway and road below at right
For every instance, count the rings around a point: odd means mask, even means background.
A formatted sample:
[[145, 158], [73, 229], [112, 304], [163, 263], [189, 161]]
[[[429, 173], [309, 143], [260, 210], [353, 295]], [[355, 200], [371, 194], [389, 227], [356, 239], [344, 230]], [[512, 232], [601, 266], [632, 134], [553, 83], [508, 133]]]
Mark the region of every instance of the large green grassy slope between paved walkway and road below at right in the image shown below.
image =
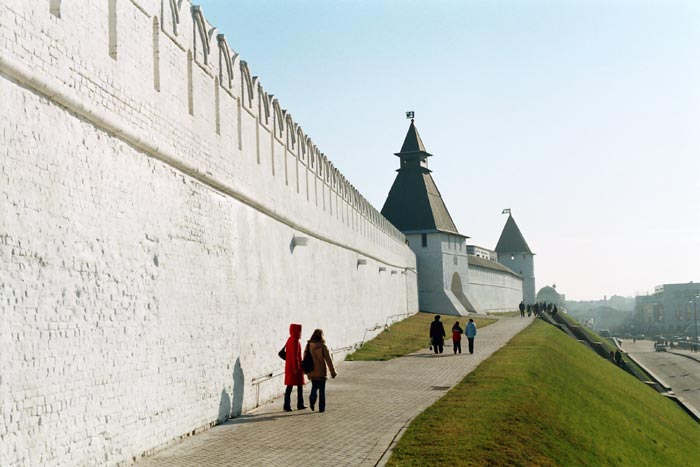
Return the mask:
[[413, 420], [389, 466], [700, 465], [675, 403], [536, 321]]

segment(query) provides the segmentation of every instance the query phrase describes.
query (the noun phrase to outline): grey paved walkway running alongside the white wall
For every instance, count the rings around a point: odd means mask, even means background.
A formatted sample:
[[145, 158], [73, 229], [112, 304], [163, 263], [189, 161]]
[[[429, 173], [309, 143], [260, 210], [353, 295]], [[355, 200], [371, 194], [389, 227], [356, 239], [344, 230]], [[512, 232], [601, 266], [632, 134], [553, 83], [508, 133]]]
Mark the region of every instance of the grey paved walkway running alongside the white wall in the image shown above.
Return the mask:
[[[428, 349], [387, 362], [341, 362], [326, 386], [325, 413], [258, 407], [188, 438], [139, 466], [376, 466], [408, 423], [524, 329], [532, 318], [501, 318], [479, 330], [474, 354]], [[449, 317], [445, 327], [450, 328]], [[462, 341], [462, 351], [467, 347]], [[304, 388], [308, 401], [311, 387]]]

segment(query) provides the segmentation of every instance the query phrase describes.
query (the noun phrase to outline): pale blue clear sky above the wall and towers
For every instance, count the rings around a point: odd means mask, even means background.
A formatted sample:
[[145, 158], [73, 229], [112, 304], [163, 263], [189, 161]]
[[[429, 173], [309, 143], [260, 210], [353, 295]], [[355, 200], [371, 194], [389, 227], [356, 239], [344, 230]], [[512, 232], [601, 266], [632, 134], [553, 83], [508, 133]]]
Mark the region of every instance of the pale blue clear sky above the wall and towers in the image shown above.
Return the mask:
[[538, 289], [700, 281], [700, 1], [199, 4], [377, 209], [414, 110], [457, 228], [493, 249], [511, 208]]

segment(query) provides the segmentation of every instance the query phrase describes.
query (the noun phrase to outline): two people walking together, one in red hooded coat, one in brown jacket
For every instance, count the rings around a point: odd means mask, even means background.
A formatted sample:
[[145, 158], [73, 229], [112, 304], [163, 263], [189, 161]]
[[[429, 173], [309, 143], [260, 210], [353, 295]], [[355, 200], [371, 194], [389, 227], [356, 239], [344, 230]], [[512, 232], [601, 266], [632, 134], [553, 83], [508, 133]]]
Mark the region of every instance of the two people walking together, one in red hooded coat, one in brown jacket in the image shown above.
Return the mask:
[[284, 410], [292, 411], [292, 391], [297, 388], [297, 410], [304, 410], [304, 374], [311, 380], [311, 395], [309, 404], [311, 410], [315, 410], [318, 401], [318, 411], [326, 410], [326, 380], [328, 372], [332, 378], [338, 374], [333, 366], [331, 354], [323, 338], [323, 330], [316, 329], [306, 343], [302, 356], [301, 352], [301, 324], [289, 325], [289, 339], [280, 350], [279, 356], [284, 359], [284, 384], [287, 386], [284, 392]]

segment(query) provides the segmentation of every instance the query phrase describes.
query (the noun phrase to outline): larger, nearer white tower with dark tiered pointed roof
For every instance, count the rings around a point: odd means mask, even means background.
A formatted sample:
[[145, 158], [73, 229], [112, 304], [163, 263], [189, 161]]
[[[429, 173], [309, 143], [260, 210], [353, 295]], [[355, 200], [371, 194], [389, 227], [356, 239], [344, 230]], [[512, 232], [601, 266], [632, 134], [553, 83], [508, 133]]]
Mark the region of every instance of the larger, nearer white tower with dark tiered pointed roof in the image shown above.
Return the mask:
[[404, 138], [398, 174], [382, 215], [408, 240], [416, 254], [418, 301], [423, 311], [464, 315], [476, 311], [469, 299], [465, 239], [455, 227], [428, 169], [423, 140], [413, 120]]

